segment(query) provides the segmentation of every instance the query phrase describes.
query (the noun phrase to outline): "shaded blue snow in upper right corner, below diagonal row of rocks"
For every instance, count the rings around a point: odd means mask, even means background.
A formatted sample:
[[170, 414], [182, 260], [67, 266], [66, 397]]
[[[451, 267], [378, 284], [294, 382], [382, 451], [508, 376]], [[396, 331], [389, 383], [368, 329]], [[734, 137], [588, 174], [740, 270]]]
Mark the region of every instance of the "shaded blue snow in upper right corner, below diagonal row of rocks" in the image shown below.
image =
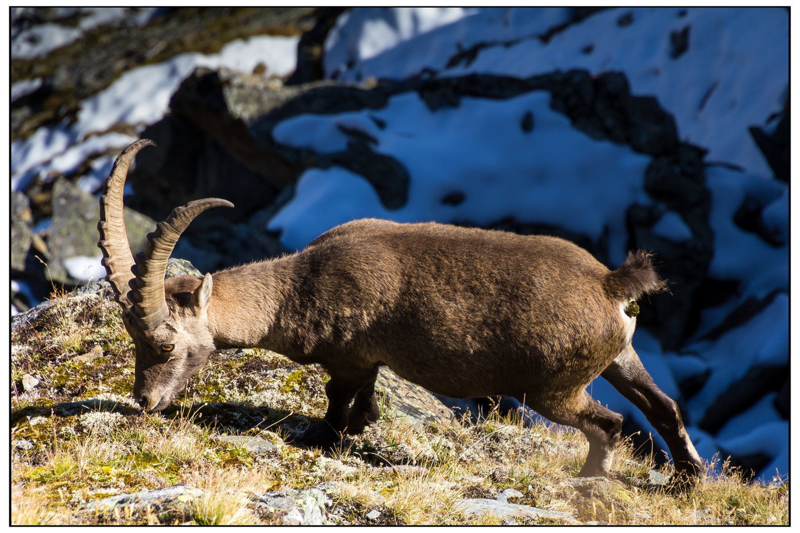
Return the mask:
[[[682, 10], [686, 15], [679, 17]], [[628, 13], [633, 22], [620, 26], [618, 19]], [[686, 28], [688, 47], [674, 57], [672, 35]], [[593, 50], [586, 54], [589, 45]], [[785, 9], [608, 10], [570, 26], [548, 44], [525, 41], [512, 50], [489, 49], [471, 66], [447, 74], [524, 78], [555, 69], [586, 69], [592, 74], [622, 70], [631, 93], [658, 97], [674, 114], [680, 137], [708, 148], [710, 161], [772, 175], [748, 128], [783, 106], [789, 83]]]

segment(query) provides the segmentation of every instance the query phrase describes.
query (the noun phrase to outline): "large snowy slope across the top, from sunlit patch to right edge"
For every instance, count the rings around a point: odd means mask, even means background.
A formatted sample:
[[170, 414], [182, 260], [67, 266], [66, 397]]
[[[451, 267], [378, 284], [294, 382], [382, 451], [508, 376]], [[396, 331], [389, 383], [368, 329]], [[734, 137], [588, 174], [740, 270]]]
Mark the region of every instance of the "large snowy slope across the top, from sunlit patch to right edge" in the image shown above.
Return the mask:
[[[326, 58], [328, 74], [358, 80], [406, 78], [423, 69], [439, 75], [498, 74], [526, 78], [553, 70], [593, 74], [622, 70], [634, 94], [654, 95], [674, 114], [683, 140], [759, 175], [770, 169], [752, 138], [782, 108], [789, 83], [789, 17], [786, 10], [741, 8], [621, 8], [595, 14], [555, 34], [538, 35], [568, 20], [565, 8], [474, 10], [458, 22], [402, 41], [382, 54]], [[390, 12], [369, 21], [346, 20], [330, 35], [336, 50], [372, 38], [371, 28], [392, 24]], [[360, 30], [360, 31], [359, 31]], [[686, 48], [679, 42], [686, 31]], [[359, 39], [360, 37], [360, 39]], [[474, 60], [447, 68], [459, 50], [488, 46]], [[350, 61], [352, 66], [342, 71]], [[755, 97], [758, 95], [758, 97]]]

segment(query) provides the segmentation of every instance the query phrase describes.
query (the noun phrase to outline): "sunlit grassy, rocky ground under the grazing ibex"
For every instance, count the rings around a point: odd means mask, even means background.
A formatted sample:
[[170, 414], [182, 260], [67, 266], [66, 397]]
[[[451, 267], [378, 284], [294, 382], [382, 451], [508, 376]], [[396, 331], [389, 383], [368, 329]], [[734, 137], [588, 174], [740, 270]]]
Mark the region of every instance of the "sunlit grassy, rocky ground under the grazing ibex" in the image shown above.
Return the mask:
[[[193, 272], [172, 261], [168, 275]], [[196, 272], [196, 271], [194, 271]], [[462, 425], [387, 369], [381, 418], [332, 450], [297, 436], [328, 379], [265, 350], [214, 352], [169, 408], [131, 397], [133, 345], [106, 282], [15, 317], [12, 523], [787, 524], [788, 483], [727, 465], [682, 490], [670, 466], [615, 454], [614, 479], [578, 479], [578, 432], [495, 409]]]

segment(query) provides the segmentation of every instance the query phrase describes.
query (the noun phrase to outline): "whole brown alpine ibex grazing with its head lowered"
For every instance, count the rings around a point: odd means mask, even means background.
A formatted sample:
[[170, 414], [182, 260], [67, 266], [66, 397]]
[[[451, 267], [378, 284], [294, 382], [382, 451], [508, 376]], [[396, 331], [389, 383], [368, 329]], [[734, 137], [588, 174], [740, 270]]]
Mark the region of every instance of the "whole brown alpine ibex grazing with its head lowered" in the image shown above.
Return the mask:
[[330, 373], [325, 418], [302, 436], [327, 445], [377, 422], [374, 384], [386, 364], [444, 396], [505, 393], [580, 429], [590, 449], [579, 475], [608, 476], [622, 416], [586, 392], [602, 375], [644, 412], [677, 470], [702, 475], [677, 404], [630, 344], [634, 300], [665, 286], [648, 254], [630, 253], [610, 271], [556, 237], [367, 219], [286, 257], [165, 281], [190, 221], [233, 205], [210, 198], [174, 209], [134, 264], [122, 191], [138, 150], [154, 144], [142, 139], [120, 154], [98, 224], [106, 279], [136, 348], [142, 408], [166, 407], [216, 348], [269, 348]]

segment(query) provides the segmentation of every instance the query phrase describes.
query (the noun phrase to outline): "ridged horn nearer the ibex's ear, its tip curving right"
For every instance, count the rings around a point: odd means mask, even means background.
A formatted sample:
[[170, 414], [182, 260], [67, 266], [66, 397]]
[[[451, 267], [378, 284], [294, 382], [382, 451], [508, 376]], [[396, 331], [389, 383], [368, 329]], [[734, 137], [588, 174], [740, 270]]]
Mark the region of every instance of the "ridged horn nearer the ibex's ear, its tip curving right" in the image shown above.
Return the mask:
[[166, 221], [158, 223], [154, 233], [147, 234], [145, 251], [136, 254], [136, 265], [133, 268], [136, 282], [130, 286], [134, 304], [131, 311], [143, 329], [152, 331], [170, 316], [164, 294], [164, 276], [166, 261], [170, 258], [178, 237], [181, 237], [181, 233], [194, 217], [206, 209], [222, 205], [234, 206], [230, 201], [221, 198], [190, 201], [183, 207], [173, 209]]

